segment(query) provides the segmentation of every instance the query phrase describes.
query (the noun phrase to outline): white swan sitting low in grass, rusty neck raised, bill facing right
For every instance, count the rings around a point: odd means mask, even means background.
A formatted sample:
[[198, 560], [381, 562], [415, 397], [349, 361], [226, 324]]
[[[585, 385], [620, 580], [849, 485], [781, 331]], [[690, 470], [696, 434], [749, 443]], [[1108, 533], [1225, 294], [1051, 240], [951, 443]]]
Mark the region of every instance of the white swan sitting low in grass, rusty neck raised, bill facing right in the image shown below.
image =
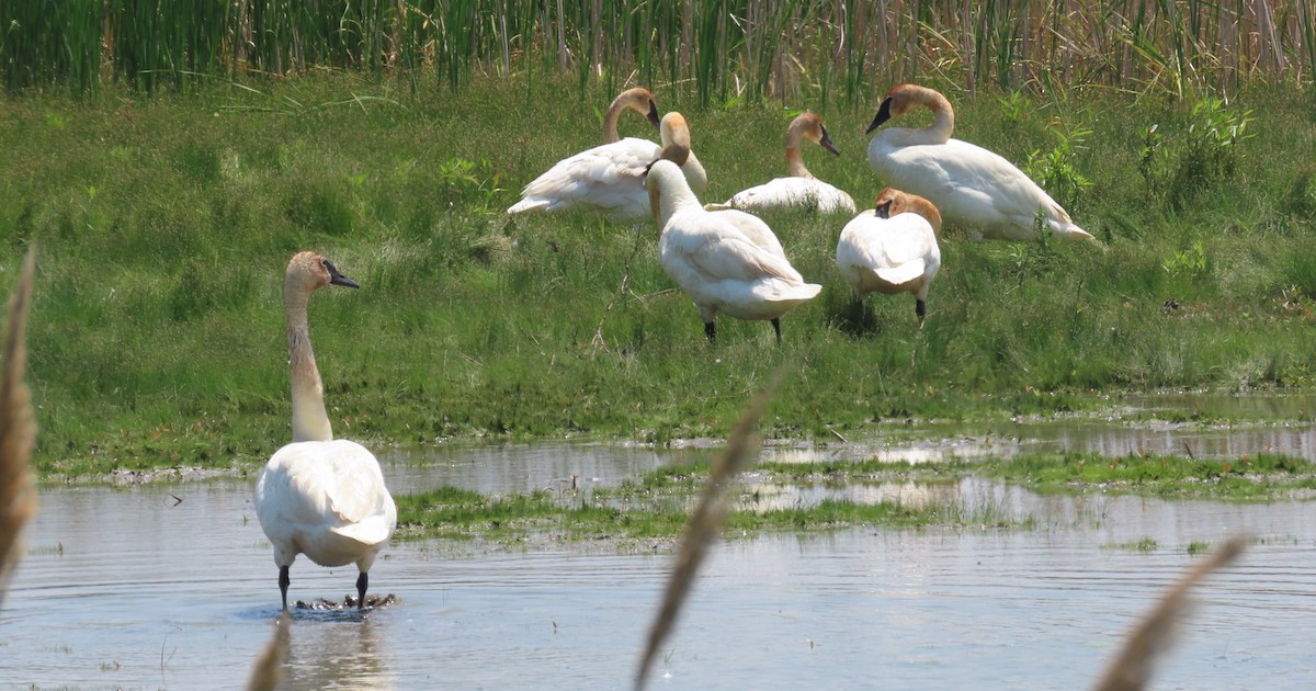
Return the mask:
[[800, 142], [811, 141], [822, 149], [841, 155], [832, 143], [832, 137], [816, 113], [801, 113], [786, 128], [786, 172], [787, 178], [776, 178], [763, 184], [737, 192], [722, 204], [707, 204], [708, 211], [745, 209], [765, 211], [790, 207], [813, 208], [822, 213], [854, 213], [854, 199], [844, 191], [828, 184], [809, 172], [800, 155]]

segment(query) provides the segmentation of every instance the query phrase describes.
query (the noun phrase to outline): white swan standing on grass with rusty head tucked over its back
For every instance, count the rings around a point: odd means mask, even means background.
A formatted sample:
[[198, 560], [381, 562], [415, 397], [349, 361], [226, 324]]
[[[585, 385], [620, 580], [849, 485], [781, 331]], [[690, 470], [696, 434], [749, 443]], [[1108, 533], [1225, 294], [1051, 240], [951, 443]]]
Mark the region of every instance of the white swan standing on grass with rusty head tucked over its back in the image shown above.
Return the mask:
[[941, 215], [917, 195], [886, 188], [871, 209], [855, 216], [841, 230], [836, 266], [854, 296], [871, 292], [912, 292], [919, 328], [928, 312], [928, 290], [941, 269]]

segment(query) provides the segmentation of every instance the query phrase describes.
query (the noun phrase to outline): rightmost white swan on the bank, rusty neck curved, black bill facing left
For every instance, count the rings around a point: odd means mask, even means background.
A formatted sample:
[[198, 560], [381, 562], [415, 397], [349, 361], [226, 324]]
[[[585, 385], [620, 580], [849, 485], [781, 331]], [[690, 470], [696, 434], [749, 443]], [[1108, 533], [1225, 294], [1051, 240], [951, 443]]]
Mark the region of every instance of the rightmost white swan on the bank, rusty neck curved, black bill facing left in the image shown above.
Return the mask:
[[951, 140], [955, 113], [945, 96], [926, 87], [900, 84], [887, 92], [869, 132], [913, 107], [932, 111], [926, 128], [886, 129], [869, 142], [869, 166], [887, 184], [937, 205], [941, 217], [986, 238], [1036, 237], [1038, 212], [1053, 233], [1071, 240], [1092, 234], [1028, 175], [980, 146]]

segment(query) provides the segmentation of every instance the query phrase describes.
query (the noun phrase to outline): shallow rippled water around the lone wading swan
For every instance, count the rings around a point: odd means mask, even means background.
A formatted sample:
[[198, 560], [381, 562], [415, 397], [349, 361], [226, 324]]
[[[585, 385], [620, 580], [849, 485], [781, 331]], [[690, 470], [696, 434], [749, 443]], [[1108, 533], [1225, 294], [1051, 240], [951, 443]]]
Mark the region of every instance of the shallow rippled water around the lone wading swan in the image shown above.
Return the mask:
[[[455, 455], [428, 469], [415, 454], [391, 454], [393, 491], [524, 491], [571, 475], [612, 483], [707, 453], [447, 451]], [[929, 491], [944, 492], [938, 501], [1032, 515], [1042, 526], [721, 544], [651, 687], [1088, 686], [1134, 617], [1196, 561], [1188, 545], [1238, 532], [1261, 541], [1199, 591], [1157, 688], [1316, 682], [1312, 504], [1037, 498], [976, 480], [862, 488], [904, 501]], [[243, 482], [46, 491], [0, 615], [0, 686], [241, 687], [279, 599], [250, 494]], [[1144, 538], [1158, 548], [1117, 546]], [[401, 601], [365, 617], [297, 613], [287, 687], [622, 688], [670, 565], [670, 554], [393, 545], [371, 571], [371, 592]], [[342, 598], [354, 580], [351, 569], [299, 559], [290, 596]]]

